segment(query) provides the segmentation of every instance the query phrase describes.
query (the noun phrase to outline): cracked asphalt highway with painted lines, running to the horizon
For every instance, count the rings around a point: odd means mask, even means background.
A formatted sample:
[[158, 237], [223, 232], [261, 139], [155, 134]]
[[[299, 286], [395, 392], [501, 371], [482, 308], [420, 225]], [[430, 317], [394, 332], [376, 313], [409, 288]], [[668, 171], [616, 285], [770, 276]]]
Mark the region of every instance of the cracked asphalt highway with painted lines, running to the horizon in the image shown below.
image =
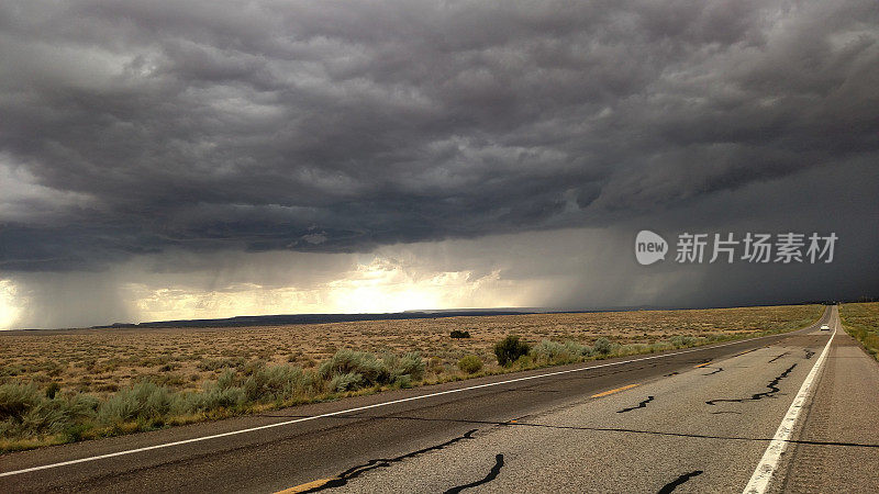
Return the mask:
[[3, 454], [0, 492], [877, 492], [837, 326]]

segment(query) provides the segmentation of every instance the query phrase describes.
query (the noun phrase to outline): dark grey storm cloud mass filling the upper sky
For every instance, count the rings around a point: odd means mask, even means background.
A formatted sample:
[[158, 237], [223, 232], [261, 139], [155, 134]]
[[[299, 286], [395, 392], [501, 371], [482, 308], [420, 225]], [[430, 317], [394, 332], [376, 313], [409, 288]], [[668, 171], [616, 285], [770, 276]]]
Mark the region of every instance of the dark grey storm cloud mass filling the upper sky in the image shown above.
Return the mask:
[[877, 24], [874, 0], [3, 3], [0, 269], [602, 225], [876, 161]]

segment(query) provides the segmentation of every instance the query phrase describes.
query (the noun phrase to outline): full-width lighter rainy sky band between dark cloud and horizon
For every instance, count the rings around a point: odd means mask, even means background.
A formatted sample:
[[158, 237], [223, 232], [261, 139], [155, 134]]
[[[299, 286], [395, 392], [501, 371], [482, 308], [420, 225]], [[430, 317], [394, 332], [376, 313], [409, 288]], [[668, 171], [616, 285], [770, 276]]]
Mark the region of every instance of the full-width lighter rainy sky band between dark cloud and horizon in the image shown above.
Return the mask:
[[[101, 272], [19, 272], [0, 280], [0, 328], [289, 313], [454, 307], [705, 307], [850, 300], [879, 293], [879, 176], [865, 161], [703, 197], [610, 227], [565, 228], [378, 247], [368, 254], [168, 248]], [[852, 181], [850, 177], [859, 177]], [[778, 193], [795, 191], [795, 193]], [[806, 198], [804, 200], [803, 198]], [[746, 207], [743, 207], [746, 204]], [[723, 218], [737, 209], [736, 217]], [[691, 233], [819, 232], [832, 263], [635, 261], [635, 233], [674, 249]], [[741, 248], [739, 248], [741, 254]], [[4, 308], [5, 305], [5, 308]]]

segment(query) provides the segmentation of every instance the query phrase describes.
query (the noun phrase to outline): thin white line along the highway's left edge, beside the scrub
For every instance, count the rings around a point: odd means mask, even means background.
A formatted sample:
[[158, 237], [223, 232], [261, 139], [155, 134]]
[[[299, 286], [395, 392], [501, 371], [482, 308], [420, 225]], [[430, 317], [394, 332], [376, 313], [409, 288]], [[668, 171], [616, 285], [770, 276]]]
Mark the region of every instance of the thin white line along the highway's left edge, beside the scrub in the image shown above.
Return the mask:
[[[823, 319], [823, 317], [822, 317], [822, 319]], [[819, 319], [819, 323], [816, 323], [816, 324], [821, 324], [822, 319]], [[810, 327], [812, 327], [812, 326], [810, 326]], [[789, 333], [787, 333], [787, 334], [789, 334]], [[835, 334], [835, 332], [834, 332], [834, 334]], [[785, 335], [785, 334], [782, 333], [781, 335]], [[725, 343], [725, 344], [721, 344], [721, 345], [713, 345], [713, 346], [710, 346], [710, 347], [705, 346], [705, 347], [699, 347], [699, 348], [691, 348], [689, 350], [676, 351], [674, 353], [655, 355], [655, 356], [644, 357], [644, 358], [639, 358], [639, 359], [624, 360], [624, 361], [621, 361], [621, 362], [601, 363], [601, 364], [598, 364], [598, 366], [590, 366], [590, 367], [582, 367], [582, 368], [577, 368], [577, 369], [567, 369], [567, 370], [563, 370], [563, 371], [547, 372], [545, 374], [526, 375], [524, 378], [510, 379], [510, 380], [507, 380], [507, 381], [489, 382], [489, 383], [486, 383], [486, 384], [477, 384], [477, 385], [474, 385], [474, 386], [459, 388], [459, 389], [456, 389], [456, 390], [438, 391], [436, 393], [422, 394], [422, 395], [418, 395], [418, 396], [410, 396], [410, 397], [405, 397], [405, 398], [393, 400], [393, 401], [390, 401], [390, 402], [374, 403], [371, 405], [364, 405], [364, 406], [358, 406], [358, 407], [355, 407], [355, 408], [342, 409], [342, 411], [338, 411], [338, 412], [329, 412], [329, 413], [321, 414], [321, 415], [312, 415], [310, 417], [302, 417], [302, 418], [296, 418], [296, 419], [292, 419], [292, 420], [278, 422], [278, 423], [275, 423], [275, 424], [267, 424], [267, 425], [264, 425], [264, 426], [251, 427], [251, 428], [247, 428], [247, 429], [232, 430], [232, 431], [229, 431], [229, 433], [214, 434], [214, 435], [211, 435], [211, 436], [193, 437], [191, 439], [183, 439], [183, 440], [174, 441], [174, 442], [164, 442], [162, 445], [153, 445], [153, 446], [146, 446], [146, 447], [143, 447], [143, 448], [127, 449], [127, 450], [124, 450], [124, 451], [116, 451], [116, 452], [107, 453], [107, 454], [98, 454], [98, 456], [88, 457], [88, 458], [79, 458], [79, 459], [76, 459], [76, 460], [60, 461], [58, 463], [43, 464], [43, 465], [40, 465], [40, 467], [31, 467], [31, 468], [27, 468], [27, 469], [13, 470], [11, 472], [0, 472], [0, 476], [19, 475], [19, 474], [22, 474], [22, 473], [36, 472], [38, 470], [47, 470], [47, 469], [54, 469], [54, 468], [57, 468], [57, 467], [66, 467], [66, 465], [69, 465], [69, 464], [85, 463], [85, 462], [88, 462], [88, 461], [96, 461], [96, 460], [103, 460], [103, 459], [107, 459], [107, 458], [122, 457], [122, 456], [125, 456], [125, 454], [133, 454], [133, 453], [137, 453], [137, 452], [143, 452], [143, 451], [151, 451], [151, 450], [154, 450], [154, 449], [170, 448], [173, 446], [188, 445], [188, 444], [191, 444], [191, 442], [207, 441], [209, 439], [216, 439], [216, 438], [221, 438], [221, 437], [235, 436], [235, 435], [238, 435], [238, 434], [253, 433], [253, 431], [256, 431], [256, 430], [270, 429], [272, 427], [281, 427], [281, 426], [286, 426], [286, 425], [290, 425], [290, 424], [298, 424], [300, 422], [315, 420], [318, 418], [326, 418], [326, 417], [332, 417], [332, 416], [335, 416], [335, 415], [349, 414], [352, 412], [360, 412], [360, 411], [369, 409], [369, 408], [378, 408], [380, 406], [388, 406], [388, 405], [393, 405], [393, 404], [397, 404], [397, 403], [411, 402], [411, 401], [414, 401], [414, 400], [424, 400], [424, 398], [429, 398], [429, 397], [433, 397], [433, 396], [439, 396], [439, 395], [444, 395], [444, 394], [460, 393], [463, 391], [478, 390], [480, 388], [490, 388], [490, 386], [497, 386], [497, 385], [501, 385], [501, 384], [509, 384], [511, 382], [527, 381], [527, 380], [539, 379], [539, 378], [548, 378], [550, 375], [567, 374], [569, 372], [582, 372], [582, 371], [588, 371], [588, 370], [592, 370], [592, 369], [599, 369], [599, 368], [602, 368], [602, 367], [622, 366], [624, 363], [641, 362], [641, 361], [644, 361], [644, 360], [653, 360], [653, 359], [660, 359], [660, 358], [666, 358], [666, 357], [674, 357], [676, 355], [690, 353], [690, 352], [693, 352], [693, 351], [704, 351], [704, 350], [710, 350], [712, 348], [721, 348], [721, 347], [726, 347], [726, 346], [730, 346], [730, 345], [737, 345], [737, 344], [741, 344], [741, 343], [754, 341], [754, 340], [763, 339], [763, 338], [771, 338], [772, 336], [779, 336], [779, 334], [758, 336], [756, 338], [748, 338], [748, 339], [739, 339], [737, 341], [730, 341], [730, 343]]]

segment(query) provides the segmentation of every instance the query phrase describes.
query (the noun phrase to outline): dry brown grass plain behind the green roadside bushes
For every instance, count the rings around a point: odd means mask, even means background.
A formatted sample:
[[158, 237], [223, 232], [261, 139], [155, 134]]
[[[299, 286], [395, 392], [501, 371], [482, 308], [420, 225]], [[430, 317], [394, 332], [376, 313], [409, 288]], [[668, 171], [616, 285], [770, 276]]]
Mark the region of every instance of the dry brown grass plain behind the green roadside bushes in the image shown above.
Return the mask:
[[[247, 362], [313, 368], [338, 349], [375, 353], [419, 351], [433, 374], [458, 372], [478, 355], [493, 362], [492, 345], [508, 334], [536, 343], [604, 336], [619, 344], [652, 344], [672, 336], [747, 335], [801, 327], [819, 305], [698, 311], [636, 311], [263, 326], [244, 328], [114, 328], [0, 333], [0, 384], [60, 384], [62, 391], [113, 394], [151, 380], [173, 390], [199, 390], [229, 367]], [[453, 339], [453, 329], [471, 338]]]

